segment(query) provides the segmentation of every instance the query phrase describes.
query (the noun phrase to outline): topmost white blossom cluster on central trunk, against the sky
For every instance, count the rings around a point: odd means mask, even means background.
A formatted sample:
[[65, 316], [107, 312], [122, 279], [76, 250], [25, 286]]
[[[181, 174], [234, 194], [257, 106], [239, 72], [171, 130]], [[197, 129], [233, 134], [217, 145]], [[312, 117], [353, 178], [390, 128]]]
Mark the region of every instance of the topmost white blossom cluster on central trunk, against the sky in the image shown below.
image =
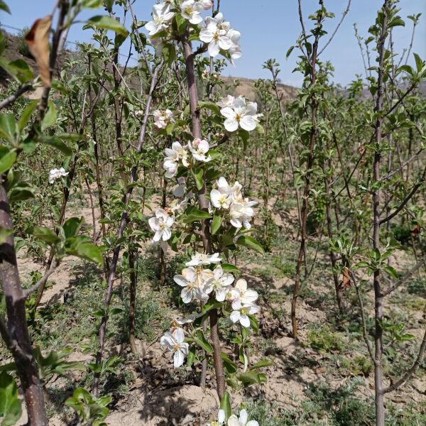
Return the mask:
[[[163, 0], [153, 6], [153, 19], [146, 23], [148, 35], [154, 37], [161, 31], [167, 31], [175, 14], [192, 25], [202, 23], [202, 11], [212, 8], [212, 0]], [[200, 27], [199, 27], [200, 28]], [[200, 29], [200, 40], [207, 45], [209, 55], [214, 58], [219, 53], [227, 53], [231, 60], [241, 58], [239, 39], [241, 33], [231, 28], [228, 21], [224, 21], [221, 12], [216, 16], [207, 16], [204, 26]]]

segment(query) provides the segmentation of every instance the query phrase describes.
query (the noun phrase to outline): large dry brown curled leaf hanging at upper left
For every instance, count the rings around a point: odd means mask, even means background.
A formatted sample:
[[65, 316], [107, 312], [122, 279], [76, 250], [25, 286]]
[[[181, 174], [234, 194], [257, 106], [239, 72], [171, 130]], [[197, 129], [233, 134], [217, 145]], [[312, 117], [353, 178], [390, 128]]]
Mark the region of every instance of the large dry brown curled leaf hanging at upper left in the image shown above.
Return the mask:
[[37, 19], [25, 38], [31, 55], [33, 55], [35, 62], [37, 62], [44, 87], [50, 87], [49, 35], [51, 24], [52, 16], [50, 15]]

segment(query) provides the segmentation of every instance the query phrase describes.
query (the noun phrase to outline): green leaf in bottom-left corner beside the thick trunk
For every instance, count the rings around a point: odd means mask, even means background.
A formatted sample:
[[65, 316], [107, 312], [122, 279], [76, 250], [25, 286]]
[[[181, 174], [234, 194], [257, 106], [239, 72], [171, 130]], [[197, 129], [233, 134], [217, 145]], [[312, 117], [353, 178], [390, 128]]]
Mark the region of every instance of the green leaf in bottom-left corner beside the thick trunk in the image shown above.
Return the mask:
[[0, 417], [1, 426], [14, 425], [22, 414], [21, 401], [18, 398], [18, 388], [12, 376], [6, 371], [0, 374]]

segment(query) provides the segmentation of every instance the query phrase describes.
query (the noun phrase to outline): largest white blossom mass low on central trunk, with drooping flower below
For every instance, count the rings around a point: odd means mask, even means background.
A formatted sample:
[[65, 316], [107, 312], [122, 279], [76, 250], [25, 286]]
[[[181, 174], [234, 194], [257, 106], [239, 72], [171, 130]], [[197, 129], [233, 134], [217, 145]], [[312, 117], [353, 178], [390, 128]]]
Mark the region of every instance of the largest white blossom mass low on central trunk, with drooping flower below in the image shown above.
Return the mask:
[[[180, 297], [185, 304], [197, 301], [204, 304], [210, 298], [217, 302], [226, 302], [231, 309], [229, 319], [234, 324], [239, 323], [242, 327], [250, 327], [249, 315], [259, 311], [255, 304], [258, 299], [256, 290], [247, 288], [247, 282], [239, 279], [234, 283], [234, 275], [226, 273], [220, 263], [219, 253], [206, 254], [195, 253], [191, 260], [185, 263], [182, 273], [175, 275], [173, 280], [182, 287]], [[214, 269], [210, 269], [215, 265]], [[177, 324], [183, 325], [192, 322], [197, 315], [185, 320], [176, 320]], [[180, 330], [180, 331], [178, 331]], [[184, 342], [183, 329], [170, 330], [161, 338], [160, 343], [174, 353], [174, 366], [181, 366], [187, 355], [187, 344]]]

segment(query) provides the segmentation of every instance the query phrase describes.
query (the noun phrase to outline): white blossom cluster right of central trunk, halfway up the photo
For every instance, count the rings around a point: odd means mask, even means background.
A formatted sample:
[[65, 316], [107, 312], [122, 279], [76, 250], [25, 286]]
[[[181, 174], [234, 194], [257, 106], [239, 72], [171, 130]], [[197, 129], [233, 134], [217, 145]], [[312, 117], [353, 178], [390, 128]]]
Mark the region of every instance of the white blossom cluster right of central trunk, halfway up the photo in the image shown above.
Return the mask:
[[229, 222], [236, 229], [240, 229], [243, 226], [245, 229], [250, 229], [250, 220], [254, 215], [253, 206], [258, 203], [243, 197], [241, 193], [242, 185], [238, 181], [229, 186], [222, 176], [216, 181], [216, 186], [217, 189], [213, 189], [210, 192], [212, 205], [228, 214]]

